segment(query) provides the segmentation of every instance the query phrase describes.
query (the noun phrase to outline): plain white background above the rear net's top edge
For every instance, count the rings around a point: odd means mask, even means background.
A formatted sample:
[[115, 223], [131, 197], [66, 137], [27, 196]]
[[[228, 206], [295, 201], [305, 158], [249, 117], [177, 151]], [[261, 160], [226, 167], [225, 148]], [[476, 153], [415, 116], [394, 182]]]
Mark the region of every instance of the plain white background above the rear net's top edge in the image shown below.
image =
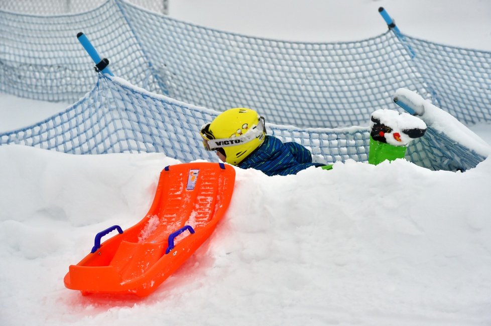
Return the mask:
[[251, 36], [311, 42], [357, 41], [384, 33], [384, 7], [401, 32], [446, 45], [491, 50], [491, 1], [179, 0], [169, 15]]

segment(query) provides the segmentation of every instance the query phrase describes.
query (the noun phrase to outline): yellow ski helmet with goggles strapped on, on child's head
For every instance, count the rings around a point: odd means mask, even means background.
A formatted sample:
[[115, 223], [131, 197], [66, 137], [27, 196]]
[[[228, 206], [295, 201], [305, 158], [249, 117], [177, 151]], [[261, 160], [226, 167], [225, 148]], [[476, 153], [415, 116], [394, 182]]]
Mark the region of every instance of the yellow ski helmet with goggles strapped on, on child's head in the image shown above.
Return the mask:
[[218, 150], [226, 162], [236, 166], [264, 142], [264, 118], [248, 108], [233, 108], [220, 113], [201, 127], [203, 144]]

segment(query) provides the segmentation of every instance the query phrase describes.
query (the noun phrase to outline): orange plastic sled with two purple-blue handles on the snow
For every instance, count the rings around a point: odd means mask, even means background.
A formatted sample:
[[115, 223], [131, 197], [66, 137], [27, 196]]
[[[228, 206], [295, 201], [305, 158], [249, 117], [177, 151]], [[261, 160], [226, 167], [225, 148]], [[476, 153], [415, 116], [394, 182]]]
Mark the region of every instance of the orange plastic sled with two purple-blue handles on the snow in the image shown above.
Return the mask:
[[[65, 286], [82, 294], [147, 296], [211, 235], [233, 192], [231, 166], [199, 162], [166, 167], [147, 215], [124, 232], [99, 232], [92, 252], [70, 265]], [[100, 244], [105, 234], [119, 234]]]

